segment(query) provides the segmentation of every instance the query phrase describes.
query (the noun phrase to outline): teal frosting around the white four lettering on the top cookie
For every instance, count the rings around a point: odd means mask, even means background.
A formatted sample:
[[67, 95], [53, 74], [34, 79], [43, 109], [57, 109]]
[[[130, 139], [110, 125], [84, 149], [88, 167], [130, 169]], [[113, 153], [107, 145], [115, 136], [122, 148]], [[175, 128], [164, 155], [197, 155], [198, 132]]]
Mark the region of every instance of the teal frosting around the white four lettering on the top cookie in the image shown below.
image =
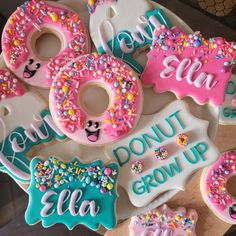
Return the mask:
[[[172, 27], [169, 19], [167, 18], [166, 14], [163, 10], [155, 9], [153, 11], [148, 11], [146, 13], [147, 19], [149, 19], [151, 16], [155, 16], [156, 19], [162, 25], [166, 25], [169, 28]], [[116, 35], [113, 39], [111, 39], [109, 42], [107, 42], [107, 45], [110, 48], [110, 50], [113, 52], [113, 55], [115, 57], [122, 59], [125, 63], [127, 63], [130, 67], [132, 67], [136, 72], [141, 74], [143, 72], [143, 67], [134, 59], [133, 54], [138, 48], [143, 48], [147, 45], [152, 44], [152, 34], [153, 34], [154, 29], [155, 29], [154, 25], [152, 25], [151, 23], [149, 23], [149, 26], [147, 26], [145, 28], [145, 31], [149, 35], [149, 39], [142, 36], [141, 33], [137, 33], [138, 37], [140, 39], [142, 39], [141, 42], [135, 41], [129, 31], [126, 31], [126, 30], [122, 31], [119, 33], [119, 35]], [[131, 50], [130, 53], [124, 53], [121, 50], [121, 48], [120, 48], [120, 40], [121, 39], [125, 40], [129, 49], [133, 48], [133, 50]], [[106, 51], [104, 50], [104, 48], [102, 46], [100, 46], [98, 48], [98, 52], [102, 53], [102, 54], [106, 53]]]

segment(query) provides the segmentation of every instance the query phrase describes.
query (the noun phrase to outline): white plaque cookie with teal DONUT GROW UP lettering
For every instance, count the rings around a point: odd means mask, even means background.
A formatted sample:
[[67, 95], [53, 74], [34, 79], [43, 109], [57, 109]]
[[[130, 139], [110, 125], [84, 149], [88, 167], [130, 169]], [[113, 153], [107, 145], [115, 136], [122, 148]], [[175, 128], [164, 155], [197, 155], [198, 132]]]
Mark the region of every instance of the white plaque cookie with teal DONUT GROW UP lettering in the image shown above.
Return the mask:
[[[219, 152], [208, 138], [208, 125], [189, 113], [185, 102], [175, 101], [157, 114], [141, 116], [129, 136], [106, 146], [107, 157], [120, 166], [119, 185], [134, 206], [147, 206], [167, 191], [184, 190], [193, 173], [217, 160]], [[177, 144], [179, 134], [188, 136], [187, 146]], [[163, 146], [168, 158], [160, 160], [156, 149]], [[136, 160], [143, 163], [142, 173], [132, 172]]]

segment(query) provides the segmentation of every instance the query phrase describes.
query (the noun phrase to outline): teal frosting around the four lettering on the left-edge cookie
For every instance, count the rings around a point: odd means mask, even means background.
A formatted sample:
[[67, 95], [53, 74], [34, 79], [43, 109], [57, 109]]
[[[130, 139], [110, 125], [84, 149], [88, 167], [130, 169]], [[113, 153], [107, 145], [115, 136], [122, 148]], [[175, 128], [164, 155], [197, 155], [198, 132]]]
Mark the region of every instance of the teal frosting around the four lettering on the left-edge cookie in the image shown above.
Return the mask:
[[[51, 116], [50, 111], [43, 110], [40, 114], [40, 117], [43, 119], [46, 116]], [[65, 135], [58, 135], [46, 122], [43, 122], [41, 126], [39, 126], [39, 130], [46, 136], [46, 139], [40, 139], [35, 131], [31, 131], [36, 141], [33, 142], [25, 135], [25, 129], [23, 127], [17, 127], [13, 130], [5, 139], [0, 143], [0, 151], [7, 158], [9, 162], [11, 162], [14, 166], [16, 166], [19, 170], [23, 171], [26, 174], [30, 175], [30, 161], [26, 158], [27, 153], [35, 146], [48, 143], [52, 141], [54, 138], [58, 140], [64, 140], [66, 138]], [[12, 148], [12, 140], [17, 140], [17, 144], [19, 147], [23, 149], [21, 152], [15, 152]], [[3, 163], [0, 162], [0, 171], [9, 174], [13, 179], [23, 182], [29, 183], [30, 179], [22, 179], [16, 176], [16, 174], [10, 169], [6, 168]]]

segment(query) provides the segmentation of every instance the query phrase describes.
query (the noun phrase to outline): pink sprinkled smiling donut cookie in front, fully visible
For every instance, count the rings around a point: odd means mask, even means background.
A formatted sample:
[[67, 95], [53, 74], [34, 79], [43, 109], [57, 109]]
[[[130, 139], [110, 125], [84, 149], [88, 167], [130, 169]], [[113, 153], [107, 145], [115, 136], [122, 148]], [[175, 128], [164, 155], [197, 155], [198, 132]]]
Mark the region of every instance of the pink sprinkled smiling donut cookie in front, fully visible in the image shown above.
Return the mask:
[[[90, 114], [78, 100], [84, 88], [102, 87], [109, 95], [107, 110]], [[97, 53], [81, 56], [56, 76], [49, 96], [52, 116], [68, 137], [85, 145], [104, 145], [127, 135], [139, 120], [142, 87], [121, 60]]]

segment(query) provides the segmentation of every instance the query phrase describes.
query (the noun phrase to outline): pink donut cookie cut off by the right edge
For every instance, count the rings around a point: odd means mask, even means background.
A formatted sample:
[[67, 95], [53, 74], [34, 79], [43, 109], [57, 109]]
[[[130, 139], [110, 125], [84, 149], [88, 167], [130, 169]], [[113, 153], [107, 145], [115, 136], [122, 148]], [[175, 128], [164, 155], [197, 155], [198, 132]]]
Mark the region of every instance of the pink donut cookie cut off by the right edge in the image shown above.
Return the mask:
[[236, 175], [236, 152], [223, 153], [217, 162], [205, 169], [201, 193], [205, 203], [221, 220], [236, 224], [236, 198], [227, 191], [227, 181]]

